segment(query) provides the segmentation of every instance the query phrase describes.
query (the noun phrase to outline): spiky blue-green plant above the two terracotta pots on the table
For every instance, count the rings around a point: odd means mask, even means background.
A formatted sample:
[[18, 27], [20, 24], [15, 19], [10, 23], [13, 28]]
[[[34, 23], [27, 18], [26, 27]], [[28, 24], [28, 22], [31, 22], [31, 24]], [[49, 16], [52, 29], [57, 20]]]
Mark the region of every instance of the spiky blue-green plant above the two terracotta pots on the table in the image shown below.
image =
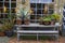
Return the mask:
[[29, 10], [26, 8], [22, 8], [20, 12], [17, 12], [17, 18], [28, 18]]

